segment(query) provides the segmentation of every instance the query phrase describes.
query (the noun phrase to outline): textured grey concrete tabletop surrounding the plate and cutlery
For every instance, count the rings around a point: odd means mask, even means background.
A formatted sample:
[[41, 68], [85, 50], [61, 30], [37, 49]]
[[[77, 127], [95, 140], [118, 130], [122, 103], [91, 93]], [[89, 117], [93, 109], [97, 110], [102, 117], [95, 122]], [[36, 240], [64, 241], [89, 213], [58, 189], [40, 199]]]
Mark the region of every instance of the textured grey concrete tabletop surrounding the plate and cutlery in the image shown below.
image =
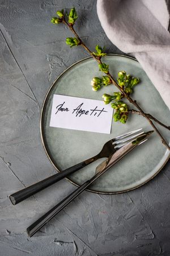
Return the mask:
[[8, 195], [55, 173], [42, 148], [39, 119], [45, 94], [67, 67], [87, 56], [69, 48], [71, 33], [49, 21], [75, 6], [76, 30], [94, 48], [121, 53], [105, 36], [96, 1], [1, 0], [1, 222], [0, 255], [170, 255], [170, 164], [143, 187], [122, 195], [84, 192], [35, 236], [28, 225], [74, 189], [69, 181], [37, 193], [15, 207]]

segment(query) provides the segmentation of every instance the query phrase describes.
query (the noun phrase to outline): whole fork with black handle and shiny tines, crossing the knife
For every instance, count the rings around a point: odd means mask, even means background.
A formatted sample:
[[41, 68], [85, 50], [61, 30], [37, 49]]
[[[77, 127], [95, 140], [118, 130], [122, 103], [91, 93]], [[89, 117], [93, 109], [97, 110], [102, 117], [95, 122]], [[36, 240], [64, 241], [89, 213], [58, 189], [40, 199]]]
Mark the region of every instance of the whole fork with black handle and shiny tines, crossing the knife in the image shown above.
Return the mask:
[[[125, 133], [116, 138], [113, 138], [110, 141], [106, 142], [101, 151], [99, 152], [99, 154], [93, 156], [92, 158], [89, 158], [81, 163], [76, 164], [75, 166], [69, 167], [64, 171], [47, 177], [46, 179], [41, 180], [33, 185], [30, 185], [27, 188], [23, 188], [22, 190], [13, 193], [12, 195], [9, 196], [11, 203], [13, 205], [16, 205], [23, 201], [24, 199], [27, 199], [29, 196], [32, 196], [33, 194], [41, 191], [42, 189], [49, 187], [50, 185], [56, 183], [57, 181], [63, 179], [64, 177], [73, 174], [74, 172], [80, 170], [85, 166], [88, 166], [88, 164], [93, 163], [100, 158], [109, 158], [109, 156], [111, 154], [114, 154], [114, 152], [116, 152], [118, 148], [124, 146], [125, 142], [135, 138], [137, 136], [137, 133], [141, 130], [142, 129], [130, 131], [129, 133]], [[141, 134], [143, 134], [143, 131], [141, 131], [141, 133], [138, 133], [138, 135]]]

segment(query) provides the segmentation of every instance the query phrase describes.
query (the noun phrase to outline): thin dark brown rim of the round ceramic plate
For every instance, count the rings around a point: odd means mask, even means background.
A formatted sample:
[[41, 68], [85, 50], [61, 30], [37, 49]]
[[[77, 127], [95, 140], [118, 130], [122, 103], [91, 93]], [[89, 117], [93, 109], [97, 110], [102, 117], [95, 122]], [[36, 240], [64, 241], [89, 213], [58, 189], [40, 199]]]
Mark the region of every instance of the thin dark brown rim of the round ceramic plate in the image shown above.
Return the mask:
[[[117, 54], [117, 53], [109, 53], [107, 54], [107, 56], [121, 56], [121, 57], [126, 57], [128, 59], [132, 59], [135, 60], [139, 63], [139, 61], [137, 59], [135, 59], [134, 57], [128, 56], [128, 55], [123, 55], [123, 54]], [[55, 170], [57, 172], [61, 172], [59, 171], [58, 167], [53, 163], [53, 160], [50, 158], [50, 155], [48, 154], [48, 150], [46, 149], [45, 146], [45, 142], [44, 142], [44, 137], [43, 137], [43, 132], [42, 132], [42, 118], [43, 118], [43, 113], [44, 113], [44, 108], [45, 108], [45, 102], [46, 102], [46, 98], [48, 97], [50, 90], [53, 88], [53, 85], [57, 82], [57, 80], [66, 72], [68, 71], [70, 68], [72, 68], [74, 65], [81, 63], [87, 59], [92, 59], [92, 56], [86, 57], [84, 59], [78, 60], [75, 63], [71, 64], [70, 67], [66, 68], [53, 82], [52, 85], [50, 85], [48, 91], [45, 94], [45, 98], [44, 101], [42, 102], [42, 106], [41, 106], [41, 114], [40, 114], [40, 135], [41, 135], [41, 142], [42, 142], [42, 146], [45, 150], [45, 154], [48, 157], [48, 159], [50, 160], [50, 163], [52, 163], [53, 167], [55, 168]], [[125, 189], [123, 191], [118, 191], [118, 192], [102, 192], [102, 191], [96, 191], [96, 190], [92, 190], [92, 189], [85, 189], [88, 192], [92, 192], [92, 193], [97, 193], [97, 194], [102, 194], [102, 195], [116, 195], [116, 194], [120, 194], [120, 193], [125, 193], [125, 192], [129, 192], [129, 191], [133, 191], [134, 189], [137, 189], [139, 187], [142, 187], [143, 185], [145, 185], [146, 183], [148, 183], [148, 181], [152, 180], [156, 175], [159, 174], [159, 172], [163, 169], [163, 167], [165, 166], [165, 164], [167, 164], [168, 160], [170, 158], [170, 152], [169, 152], [169, 156], [168, 158], [165, 160], [165, 162], [163, 163], [163, 165], [158, 169], [158, 171], [152, 175], [149, 179], [147, 179], [146, 181], [144, 181], [142, 184], [139, 184], [137, 186], [135, 186], [134, 188], [130, 188], [130, 189]], [[76, 184], [74, 181], [70, 180], [68, 177], [65, 177], [66, 180], [68, 180], [71, 184], [74, 184], [76, 187], [80, 187], [80, 185]]]

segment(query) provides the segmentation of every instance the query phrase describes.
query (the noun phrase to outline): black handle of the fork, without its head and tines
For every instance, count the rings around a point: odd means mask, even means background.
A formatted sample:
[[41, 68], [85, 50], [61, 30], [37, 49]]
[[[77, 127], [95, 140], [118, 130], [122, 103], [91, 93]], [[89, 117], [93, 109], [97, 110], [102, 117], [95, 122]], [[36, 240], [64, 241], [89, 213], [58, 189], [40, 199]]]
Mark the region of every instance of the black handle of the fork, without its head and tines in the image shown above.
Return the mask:
[[56, 183], [57, 181], [63, 179], [64, 177], [73, 174], [74, 172], [80, 170], [81, 168], [87, 166], [88, 164], [94, 162], [95, 160], [97, 160], [97, 156], [87, 159], [86, 161], [83, 161], [81, 163], [75, 164], [75, 166], [67, 168], [64, 171], [47, 177], [46, 179], [41, 180], [33, 185], [30, 185], [27, 188], [23, 188], [22, 190], [13, 193], [12, 195], [9, 196], [11, 203], [14, 205], [20, 203], [24, 199], [27, 199], [29, 196], [32, 196], [33, 194], [41, 191], [42, 189], [47, 188], [50, 185]]

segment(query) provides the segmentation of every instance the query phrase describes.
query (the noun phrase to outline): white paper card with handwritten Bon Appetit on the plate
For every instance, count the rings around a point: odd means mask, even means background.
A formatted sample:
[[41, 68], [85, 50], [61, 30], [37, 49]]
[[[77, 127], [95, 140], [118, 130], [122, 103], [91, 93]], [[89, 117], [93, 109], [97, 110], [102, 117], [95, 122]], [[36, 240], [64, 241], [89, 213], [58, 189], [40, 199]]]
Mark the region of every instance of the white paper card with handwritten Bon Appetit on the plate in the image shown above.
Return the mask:
[[112, 115], [103, 101], [54, 94], [50, 126], [109, 134]]

